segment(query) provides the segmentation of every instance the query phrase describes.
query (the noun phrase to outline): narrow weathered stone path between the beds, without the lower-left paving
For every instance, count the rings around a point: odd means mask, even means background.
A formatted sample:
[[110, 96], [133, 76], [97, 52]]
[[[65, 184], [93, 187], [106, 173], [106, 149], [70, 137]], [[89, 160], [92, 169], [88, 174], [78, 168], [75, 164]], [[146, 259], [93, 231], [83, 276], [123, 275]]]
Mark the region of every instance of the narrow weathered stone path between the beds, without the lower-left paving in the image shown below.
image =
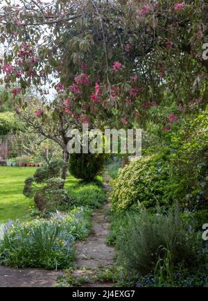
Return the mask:
[[[104, 190], [110, 192], [110, 177], [105, 173]], [[76, 244], [77, 261], [76, 270], [71, 273], [75, 278], [91, 277], [96, 268], [107, 268], [114, 263], [114, 248], [105, 243], [110, 224], [107, 222], [106, 212], [110, 209], [110, 203], [107, 202], [101, 209], [96, 209], [92, 214], [92, 234], [85, 241]], [[86, 283], [83, 286], [113, 286], [112, 283]]]

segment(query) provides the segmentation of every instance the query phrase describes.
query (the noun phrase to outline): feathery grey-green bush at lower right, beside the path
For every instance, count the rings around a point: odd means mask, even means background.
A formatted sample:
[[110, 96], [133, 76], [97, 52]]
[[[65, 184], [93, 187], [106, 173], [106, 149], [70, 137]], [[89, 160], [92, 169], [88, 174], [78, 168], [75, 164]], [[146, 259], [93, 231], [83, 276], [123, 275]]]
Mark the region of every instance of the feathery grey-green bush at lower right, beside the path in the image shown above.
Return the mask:
[[177, 209], [164, 215], [159, 212], [150, 214], [141, 208], [135, 216], [127, 215], [116, 247], [118, 261], [129, 275], [153, 272], [161, 246], [168, 246], [173, 266], [194, 266], [198, 260], [194, 233], [189, 232], [188, 225], [182, 223]]

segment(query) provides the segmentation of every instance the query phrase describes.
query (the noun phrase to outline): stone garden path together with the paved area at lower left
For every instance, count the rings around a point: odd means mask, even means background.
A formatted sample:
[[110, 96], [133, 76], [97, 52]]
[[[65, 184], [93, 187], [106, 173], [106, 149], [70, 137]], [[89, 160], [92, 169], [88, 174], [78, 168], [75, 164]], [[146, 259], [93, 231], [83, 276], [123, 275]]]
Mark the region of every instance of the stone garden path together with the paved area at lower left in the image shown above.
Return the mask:
[[[105, 173], [104, 189], [110, 191], [109, 176]], [[106, 268], [113, 264], [114, 248], [105, 244], [109, 232], [109, 223], [105, 213], [110, 209], [106, 203], [101, 209], [96, 209], [92, 214], [92, 234], [85, 241], [76, 244], [78, 260], [75, 264], [73, 277], [90, 277], [95, 268]], [[55, 272], [36, 268], [8, 268], [0, 266], [0, 287], [42, 287], [54, 286], [56, 279], [62, 272]], [[83, 284], [88, 287], [112, 286], [111, 283]]]

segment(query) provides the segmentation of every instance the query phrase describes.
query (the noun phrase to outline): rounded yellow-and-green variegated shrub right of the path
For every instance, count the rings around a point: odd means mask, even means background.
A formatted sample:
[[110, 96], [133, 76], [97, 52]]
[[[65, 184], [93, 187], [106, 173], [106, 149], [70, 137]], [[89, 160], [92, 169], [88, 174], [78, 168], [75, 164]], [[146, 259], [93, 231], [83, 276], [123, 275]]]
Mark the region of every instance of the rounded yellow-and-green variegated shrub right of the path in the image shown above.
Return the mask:
[[112, 209], [119, 212], [137, 203], [146, 208], [166, 201], [166, 167], [157, 156], [142, 157], [121, 169], [119, 177], [112, 180]]

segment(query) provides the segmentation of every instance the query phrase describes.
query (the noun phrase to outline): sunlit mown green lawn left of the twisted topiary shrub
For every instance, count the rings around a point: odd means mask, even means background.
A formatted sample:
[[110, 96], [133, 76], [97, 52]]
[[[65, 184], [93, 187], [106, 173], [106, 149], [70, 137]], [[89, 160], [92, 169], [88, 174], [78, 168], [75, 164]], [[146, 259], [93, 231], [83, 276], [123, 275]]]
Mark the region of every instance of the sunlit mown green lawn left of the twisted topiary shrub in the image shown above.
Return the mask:
[[22, 194], [24, 180], [35, 172], [35, 167], [0, 166], [0, 222], [28, 215], [28, 207], [33, 200]]

